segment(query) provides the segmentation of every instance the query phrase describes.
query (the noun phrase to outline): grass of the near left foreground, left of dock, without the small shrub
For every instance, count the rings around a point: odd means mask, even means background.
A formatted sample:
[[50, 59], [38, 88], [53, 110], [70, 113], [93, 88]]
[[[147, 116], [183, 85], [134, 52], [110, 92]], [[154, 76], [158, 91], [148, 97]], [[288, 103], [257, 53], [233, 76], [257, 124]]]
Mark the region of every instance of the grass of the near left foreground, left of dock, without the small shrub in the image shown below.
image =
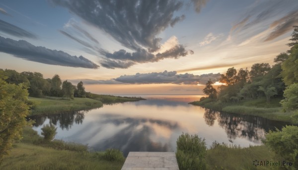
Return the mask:
[[1, 170], [121, 170], [124, 162], [101, 159], [100, 153], [55, 150], [31, 144], [14, 145]]

